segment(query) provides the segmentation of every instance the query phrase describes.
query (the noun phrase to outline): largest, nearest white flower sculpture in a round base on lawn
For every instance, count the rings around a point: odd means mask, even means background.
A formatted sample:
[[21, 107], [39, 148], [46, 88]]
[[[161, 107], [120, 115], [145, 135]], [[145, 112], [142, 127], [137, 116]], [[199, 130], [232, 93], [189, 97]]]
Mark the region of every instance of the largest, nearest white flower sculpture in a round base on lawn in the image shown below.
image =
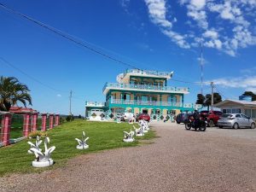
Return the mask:
[[36, 144], [28, 142], [31, 145], [31, 148], [28, 150], [29, 154], [35, 154], [36, 160], [32, 161], [32, 166], [35, 167], [44, 167], [53, 165], [54, 161], [50, 158], [50, 154], [55, 150], [55, 146], [47, 148], [47, 143], [49, 143], [49, 137], [44, 139], [44, 153], [42, 149], [39, 148], [39, 145], [42, 143], [42, 140], [39, 140], [37, 137]]

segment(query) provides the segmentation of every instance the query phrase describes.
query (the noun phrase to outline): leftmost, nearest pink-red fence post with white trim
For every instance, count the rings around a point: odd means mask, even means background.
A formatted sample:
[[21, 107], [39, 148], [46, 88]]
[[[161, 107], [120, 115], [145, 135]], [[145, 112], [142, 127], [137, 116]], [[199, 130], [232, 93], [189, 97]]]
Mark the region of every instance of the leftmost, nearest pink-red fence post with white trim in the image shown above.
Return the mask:
[[11, 113], [3, 113], [2, 114], [2, 128], [1, 128], [1, 142], [3, 142], [3, 146], [9, 145], [9, 134], [10, 134], [10, 125], [12, 120]]

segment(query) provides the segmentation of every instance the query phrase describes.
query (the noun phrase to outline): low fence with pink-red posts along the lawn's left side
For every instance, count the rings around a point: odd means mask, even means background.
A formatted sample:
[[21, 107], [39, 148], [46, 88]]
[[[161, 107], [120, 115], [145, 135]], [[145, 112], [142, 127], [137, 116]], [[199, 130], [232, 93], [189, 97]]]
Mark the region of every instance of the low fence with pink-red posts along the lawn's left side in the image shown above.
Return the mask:
[[0, 146], [20, 141], [32, 131], [47, 131], [60, 125], [60, 115], [54, 113], [0, 112]]

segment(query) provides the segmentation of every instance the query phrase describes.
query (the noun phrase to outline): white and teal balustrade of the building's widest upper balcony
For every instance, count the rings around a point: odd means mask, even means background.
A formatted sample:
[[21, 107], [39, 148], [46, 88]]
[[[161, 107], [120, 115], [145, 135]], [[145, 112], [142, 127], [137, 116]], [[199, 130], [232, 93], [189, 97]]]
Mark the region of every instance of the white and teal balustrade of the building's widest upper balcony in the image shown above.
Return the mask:
[[182, 94], [189, 93], [189, 88], [187, 87], [156, 86], [156, 85], [148, 85], [148, 84], [106, 83], [102, 89], [102, 92], [106, 95], [108, 93], [108, 90], [139, 90], [139, 91], [182, 93]]

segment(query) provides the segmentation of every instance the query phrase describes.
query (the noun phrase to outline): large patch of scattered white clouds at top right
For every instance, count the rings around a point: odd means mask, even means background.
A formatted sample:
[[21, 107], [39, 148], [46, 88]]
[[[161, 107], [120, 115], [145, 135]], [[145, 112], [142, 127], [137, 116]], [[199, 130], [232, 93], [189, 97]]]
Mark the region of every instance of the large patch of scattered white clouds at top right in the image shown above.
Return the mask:
[[175, 30], [181, 23], [175, 10], [166, 6], [167, 0], [144, 1], [150, 20], [181, 48], [198, 47], [202, 41], [207, 48], [236, 56], [238, 49], [256, 45], [256, 0], [179, 0], [187, 10], [188, 20], [183, 23], [189, 30], [185, 32]]

